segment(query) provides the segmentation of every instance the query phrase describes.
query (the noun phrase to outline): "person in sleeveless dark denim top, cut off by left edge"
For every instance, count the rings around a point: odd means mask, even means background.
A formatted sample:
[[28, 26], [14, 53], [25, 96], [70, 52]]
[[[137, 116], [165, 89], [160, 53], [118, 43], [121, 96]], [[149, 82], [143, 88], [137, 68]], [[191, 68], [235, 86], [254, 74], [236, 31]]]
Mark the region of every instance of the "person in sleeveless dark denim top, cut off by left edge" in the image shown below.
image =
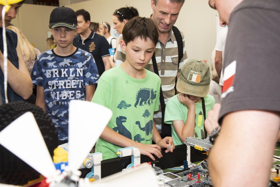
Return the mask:
[[[3, 56], [3, 26], [7, 26], [12, 19], [17, 15], [17, 12], [23, 1], [19, 3], [11, 4], [10, 9], [5, 13], [5, 17], [0, 16], [0, 92], [1, 102], [5, 103], [5, 91], [4, 91], [4, 56]], [[0, 5], [0, 11], [2, 12], [3, 5]], [[5, 25], [2, 25], [4, 19]], [[17, 40], [17, 34], [15, 32], [6, 29], [7, 38], [7, 99], [9, 101], [22, 101], [28, 99], [32, 94], [32, 81], [23, 61], [21, 47]], [[0, 103], [1, 103], [0, 102]]]

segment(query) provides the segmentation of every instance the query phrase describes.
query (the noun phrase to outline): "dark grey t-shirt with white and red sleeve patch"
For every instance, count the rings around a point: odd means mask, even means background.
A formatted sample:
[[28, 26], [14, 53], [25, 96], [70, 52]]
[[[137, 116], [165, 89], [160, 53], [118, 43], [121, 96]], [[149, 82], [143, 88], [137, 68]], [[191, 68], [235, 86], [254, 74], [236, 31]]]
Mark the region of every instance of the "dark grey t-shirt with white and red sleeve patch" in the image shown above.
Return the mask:
[[280, 111], [280, 1], [244, 0], [231, 13], [219, 119], [241, 110]]

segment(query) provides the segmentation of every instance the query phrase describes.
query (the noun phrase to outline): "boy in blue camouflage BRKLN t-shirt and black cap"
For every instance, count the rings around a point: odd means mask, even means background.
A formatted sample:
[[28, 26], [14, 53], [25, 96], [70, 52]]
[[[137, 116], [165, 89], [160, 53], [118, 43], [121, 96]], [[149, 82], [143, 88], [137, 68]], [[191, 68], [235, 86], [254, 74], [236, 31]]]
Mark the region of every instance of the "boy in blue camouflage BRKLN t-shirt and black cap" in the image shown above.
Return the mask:
[[57, 46], [38, 57], [31, 78], [37, 85], [36, 105], [50, 115], [62, 144], [68, 141], [70, 101], [91, 101], [99, 75], [92, 55], [73, 46], [77, 16], [72, 9], [55, 8], [49, 27]]

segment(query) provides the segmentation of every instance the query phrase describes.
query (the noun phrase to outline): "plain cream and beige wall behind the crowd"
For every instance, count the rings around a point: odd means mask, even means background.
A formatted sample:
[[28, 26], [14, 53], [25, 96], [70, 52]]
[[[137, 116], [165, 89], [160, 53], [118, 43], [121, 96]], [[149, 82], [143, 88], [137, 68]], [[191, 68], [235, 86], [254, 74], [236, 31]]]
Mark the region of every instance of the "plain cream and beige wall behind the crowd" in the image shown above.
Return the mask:
[[[90, 0], [68, 5], [74, 11], [85, 9], [90, 13], [91, 21], [107, 21], [113, 25], [112, 15], [116, 9], [125, 6], [136, 7], [140, 16], [149, 17], [151, 0]], [[18, 17], [11, 23], [19, 27], [29, 42], [35, 44], [41, 52], [47, 50], [46, 39], [49, 17], [55, 7], [23, 4]], [[217, 11], [211, 9], [208, 0], [186, 0], [175, 26], [185, 35], [186, 50], [189, 59], [211, 60], [211, 52], [216, 40]]]

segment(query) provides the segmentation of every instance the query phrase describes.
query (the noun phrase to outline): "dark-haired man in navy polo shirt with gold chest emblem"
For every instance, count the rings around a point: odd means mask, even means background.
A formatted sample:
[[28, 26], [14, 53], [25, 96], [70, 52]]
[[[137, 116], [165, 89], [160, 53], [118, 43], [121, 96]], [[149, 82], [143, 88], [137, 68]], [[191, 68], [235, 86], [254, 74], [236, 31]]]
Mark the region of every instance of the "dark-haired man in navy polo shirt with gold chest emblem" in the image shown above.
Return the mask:
[[73, 45], [90, 52], [95, 60], [99, 75], [111, 68], [109, 64], [109, 48], [105, 37], [90, 30], [90, 14], [84, 9], [76, 11], [78, 21], [78, 36], [74, 38]]

